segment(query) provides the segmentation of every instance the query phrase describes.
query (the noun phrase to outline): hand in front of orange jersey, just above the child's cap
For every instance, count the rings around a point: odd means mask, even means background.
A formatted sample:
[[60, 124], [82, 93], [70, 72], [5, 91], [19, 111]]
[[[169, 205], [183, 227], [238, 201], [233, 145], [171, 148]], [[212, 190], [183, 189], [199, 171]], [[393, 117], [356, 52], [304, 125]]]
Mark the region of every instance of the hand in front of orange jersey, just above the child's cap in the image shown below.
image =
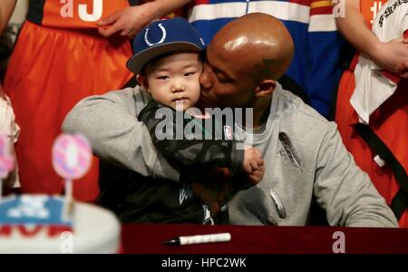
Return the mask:
[[129, 39], [135, 36], [143, 27], [154, 19], [149, 5], [130, 6], [109, 15], [99, 21], [99, 34], [108, 38], [112, 34], [120, 34]]

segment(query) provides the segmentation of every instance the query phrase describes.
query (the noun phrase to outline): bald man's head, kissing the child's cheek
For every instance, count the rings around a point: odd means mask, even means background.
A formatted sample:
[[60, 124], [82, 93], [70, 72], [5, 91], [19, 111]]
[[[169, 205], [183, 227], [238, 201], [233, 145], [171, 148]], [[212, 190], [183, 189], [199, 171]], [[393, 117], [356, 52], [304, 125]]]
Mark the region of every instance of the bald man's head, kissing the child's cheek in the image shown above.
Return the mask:
[[250, 14], [231, 21], [208, 46], [200, 78], [202, 104], [253, 107], [270, 100], [293, 51], [287, 28], [273, 16]]

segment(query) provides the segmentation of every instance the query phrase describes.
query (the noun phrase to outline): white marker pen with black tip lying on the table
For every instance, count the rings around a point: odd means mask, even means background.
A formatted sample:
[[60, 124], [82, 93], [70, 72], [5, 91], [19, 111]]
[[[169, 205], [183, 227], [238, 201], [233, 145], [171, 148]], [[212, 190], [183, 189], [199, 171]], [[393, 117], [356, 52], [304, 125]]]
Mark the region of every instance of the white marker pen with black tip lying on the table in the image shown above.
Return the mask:
[[230, 240], [231, 240], [231, 235], [228, 232], [226, 232], [226, 233], [218, 233], [218, 234], [180, 236], [178, 238], [173, 238], [168, 241], [165, 241], [164, 244], [168, 246], [184, 246], [184, 245], [194, 245], [194, 244], [228, 242]]

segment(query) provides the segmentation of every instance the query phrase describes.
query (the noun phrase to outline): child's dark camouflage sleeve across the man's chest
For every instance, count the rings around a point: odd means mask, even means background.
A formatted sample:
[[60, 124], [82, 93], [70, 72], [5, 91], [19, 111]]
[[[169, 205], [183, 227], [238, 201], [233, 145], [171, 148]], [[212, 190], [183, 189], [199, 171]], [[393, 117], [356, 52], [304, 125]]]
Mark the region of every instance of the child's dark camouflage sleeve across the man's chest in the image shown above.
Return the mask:
[[232, 126], [215, 115], [210, 118], [205, 122], [155, 101], [138, 116], [150, 131], [153, 145], [173, 167], [180, 170], [188, 165], [212, 164], [231, 170], [242, 168], [244, 151], [233, 140]]

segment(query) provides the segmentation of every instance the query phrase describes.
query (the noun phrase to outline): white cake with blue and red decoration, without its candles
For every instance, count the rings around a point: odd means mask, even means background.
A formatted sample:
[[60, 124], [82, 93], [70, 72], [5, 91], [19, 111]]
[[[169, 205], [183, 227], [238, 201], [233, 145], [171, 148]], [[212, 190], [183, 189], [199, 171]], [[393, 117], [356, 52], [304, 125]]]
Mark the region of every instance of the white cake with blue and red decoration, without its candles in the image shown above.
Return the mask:
[[1, 199], [0, 253], [118, 253], [121, 226], [113, 213], [72, 203], [46, 195]]

